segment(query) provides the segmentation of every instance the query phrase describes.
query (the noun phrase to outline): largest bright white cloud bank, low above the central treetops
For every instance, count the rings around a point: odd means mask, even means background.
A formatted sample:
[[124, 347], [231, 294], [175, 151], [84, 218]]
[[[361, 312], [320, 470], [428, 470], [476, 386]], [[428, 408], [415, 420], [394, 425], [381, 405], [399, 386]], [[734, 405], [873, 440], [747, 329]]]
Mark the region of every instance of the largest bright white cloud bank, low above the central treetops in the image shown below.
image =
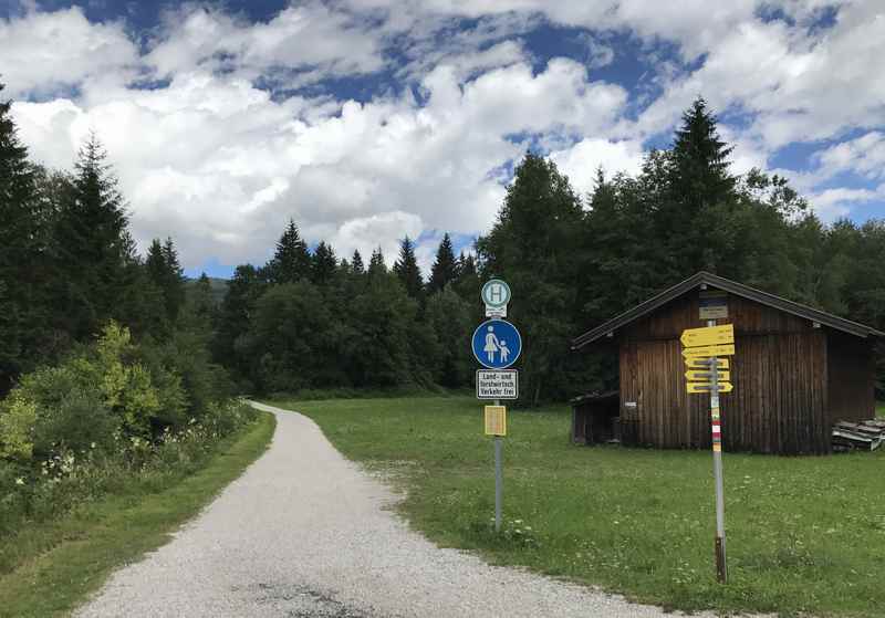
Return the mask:
[[[236, 75], [176, 74], [167, 87], [95, 92], [81, 101], [17, 103], [35, 158], [69, 167], [95, 128], [132, 208], [136, 239], [171, 233], [183, 263], [260, 262], [293, 217], [340, 255], [438, 231], [476, 233], [504, 193], [493, 171], [520, 156], [518, 133], [604, 134], [626, 95], [558, 60], [461, 82], [450, 66], [409, 95], [371, 103], [272, 99]], [[424, 258], [426, 261], [426, 256]]]

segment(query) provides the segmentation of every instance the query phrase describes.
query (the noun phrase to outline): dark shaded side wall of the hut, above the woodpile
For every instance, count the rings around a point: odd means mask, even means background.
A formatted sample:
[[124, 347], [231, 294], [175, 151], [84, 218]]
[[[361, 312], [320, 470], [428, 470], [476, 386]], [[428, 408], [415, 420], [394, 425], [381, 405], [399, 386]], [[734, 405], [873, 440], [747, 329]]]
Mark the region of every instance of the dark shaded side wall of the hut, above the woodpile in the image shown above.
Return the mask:
[[871, 342], [831, 332], [827, 353], [830, 425], [874, 418], [876, 365]]

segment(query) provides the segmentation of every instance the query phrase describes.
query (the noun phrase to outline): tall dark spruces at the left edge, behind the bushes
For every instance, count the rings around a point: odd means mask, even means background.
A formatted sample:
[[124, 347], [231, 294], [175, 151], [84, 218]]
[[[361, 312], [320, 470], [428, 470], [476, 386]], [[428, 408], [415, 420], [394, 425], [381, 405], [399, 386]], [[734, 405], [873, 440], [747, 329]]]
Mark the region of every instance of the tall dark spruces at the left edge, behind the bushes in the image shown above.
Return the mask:
[[181, 380], [186, 411], [222, 399], [231, 388], [210, 356], [209, 280], [187, 284], [170, 238], [137, 252], [94, 134], [72, 170], [48, 169], [30, 160], [10, 107], [0, 103], [0, 395], [82, 354], [113, 322], [156, 360], [155, 377], [163, 366]]

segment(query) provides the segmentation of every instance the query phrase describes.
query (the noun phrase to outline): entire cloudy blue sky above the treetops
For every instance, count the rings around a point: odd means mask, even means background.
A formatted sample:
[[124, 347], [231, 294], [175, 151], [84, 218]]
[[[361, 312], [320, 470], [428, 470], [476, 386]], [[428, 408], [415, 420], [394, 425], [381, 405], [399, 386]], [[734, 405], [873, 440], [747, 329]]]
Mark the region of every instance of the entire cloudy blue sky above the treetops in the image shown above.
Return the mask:
[[736, 174], [829, 221], [885, 213], [885, 6], [826, 0], [0, 0], [34, 158], [108, 150], [143, 245], [189, 274], [263, 262], [287, 220], [340, 256], [488, 230], [525, 148], [582, 192], [705, 96]]

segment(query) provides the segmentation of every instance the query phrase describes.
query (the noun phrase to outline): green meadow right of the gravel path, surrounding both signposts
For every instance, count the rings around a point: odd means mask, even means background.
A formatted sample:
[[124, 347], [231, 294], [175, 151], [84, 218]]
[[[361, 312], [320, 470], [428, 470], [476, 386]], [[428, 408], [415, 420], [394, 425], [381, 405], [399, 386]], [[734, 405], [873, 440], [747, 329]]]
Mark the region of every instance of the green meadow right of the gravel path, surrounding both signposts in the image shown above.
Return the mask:
[[470, 398], [278, 400], [406, 496], [412, 525], [481, 552], [665, 608], [882, 616], [885, 449], [778, 458], [726, 453], [729, 583], [714, 569], [709, 452], [569, 443], [565, 407], [510, 411], [506, 533], [493, 455]]

